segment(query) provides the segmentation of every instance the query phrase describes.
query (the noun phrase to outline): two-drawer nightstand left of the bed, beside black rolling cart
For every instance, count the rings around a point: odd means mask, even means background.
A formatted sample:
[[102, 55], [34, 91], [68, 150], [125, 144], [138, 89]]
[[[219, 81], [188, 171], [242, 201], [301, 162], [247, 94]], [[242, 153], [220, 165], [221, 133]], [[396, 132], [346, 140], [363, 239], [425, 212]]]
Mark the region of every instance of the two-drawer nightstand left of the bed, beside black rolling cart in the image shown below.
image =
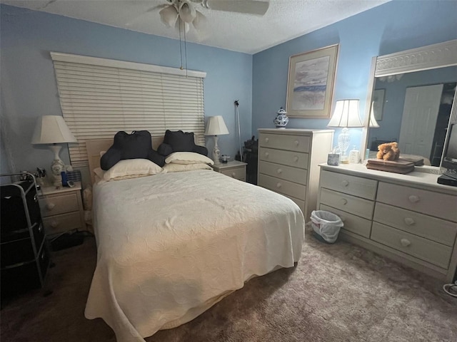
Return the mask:
[[74, 182], [74, 187], [41, 187], [39, 204], [47, 235], [52, 237], [74, 229], [87, 230], [81, 182]]

